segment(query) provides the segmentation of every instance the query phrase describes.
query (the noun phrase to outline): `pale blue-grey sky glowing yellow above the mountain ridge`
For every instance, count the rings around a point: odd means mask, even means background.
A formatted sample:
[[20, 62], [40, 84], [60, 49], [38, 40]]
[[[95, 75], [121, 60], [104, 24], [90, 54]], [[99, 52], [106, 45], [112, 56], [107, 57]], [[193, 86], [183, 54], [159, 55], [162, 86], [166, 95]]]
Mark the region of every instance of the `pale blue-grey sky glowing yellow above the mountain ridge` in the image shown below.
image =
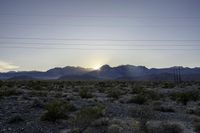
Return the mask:
[[199, 0], [0, 0], [0, 72], [200, 66]]

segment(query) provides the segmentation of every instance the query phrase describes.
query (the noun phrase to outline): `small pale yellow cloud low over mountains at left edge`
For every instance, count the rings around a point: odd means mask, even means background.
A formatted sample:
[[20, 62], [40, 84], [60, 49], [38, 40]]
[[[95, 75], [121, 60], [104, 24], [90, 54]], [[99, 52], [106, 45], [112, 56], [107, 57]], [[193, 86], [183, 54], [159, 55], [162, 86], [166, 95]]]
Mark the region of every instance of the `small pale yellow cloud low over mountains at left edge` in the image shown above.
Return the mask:
[[0, 61], [0, 71], [10, 71], [10, 70], [16, 70], [19, 68], [19, 66], [13, 65], [12, 63]]

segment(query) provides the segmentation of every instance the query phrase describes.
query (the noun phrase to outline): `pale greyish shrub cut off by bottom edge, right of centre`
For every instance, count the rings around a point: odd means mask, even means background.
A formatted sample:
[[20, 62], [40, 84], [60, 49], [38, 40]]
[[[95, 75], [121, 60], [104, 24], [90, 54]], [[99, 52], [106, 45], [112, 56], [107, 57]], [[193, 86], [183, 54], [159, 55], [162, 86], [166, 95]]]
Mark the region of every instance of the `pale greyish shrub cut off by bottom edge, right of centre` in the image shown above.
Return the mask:
[[159, 126], [147, 128], [148, 133], [183, 133], [183, 128], [178, 123], [162, 122]]

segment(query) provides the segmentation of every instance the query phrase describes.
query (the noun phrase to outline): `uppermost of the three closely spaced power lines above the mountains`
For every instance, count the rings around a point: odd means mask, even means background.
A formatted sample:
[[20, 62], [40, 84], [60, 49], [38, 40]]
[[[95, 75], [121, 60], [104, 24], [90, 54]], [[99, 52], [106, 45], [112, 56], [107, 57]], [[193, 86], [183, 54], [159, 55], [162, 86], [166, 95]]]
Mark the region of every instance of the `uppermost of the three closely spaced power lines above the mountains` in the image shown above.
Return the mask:
[[198, 39], [83, 39], [83, 38], [39, 38], [39, 37], [0, 37], [9, 40], [65, 40], [65, 41], [124, 41], [124, 42], [199, 42]]

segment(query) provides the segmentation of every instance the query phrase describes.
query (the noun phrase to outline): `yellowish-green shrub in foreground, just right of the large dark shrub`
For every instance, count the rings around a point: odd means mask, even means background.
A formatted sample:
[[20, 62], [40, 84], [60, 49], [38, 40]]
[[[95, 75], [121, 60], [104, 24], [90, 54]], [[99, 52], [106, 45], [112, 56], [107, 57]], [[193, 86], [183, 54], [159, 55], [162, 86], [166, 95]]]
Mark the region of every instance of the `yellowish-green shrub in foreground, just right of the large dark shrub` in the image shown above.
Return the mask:
[[83, 132], [89, 127], [93, 121], [104, 116], [105, 107], [103, 105], [97, 105], [93, 107], [84, 107], [79, 110], [76, 116], [73, 118], [73, 128], [79, 128], [80, 132]]

